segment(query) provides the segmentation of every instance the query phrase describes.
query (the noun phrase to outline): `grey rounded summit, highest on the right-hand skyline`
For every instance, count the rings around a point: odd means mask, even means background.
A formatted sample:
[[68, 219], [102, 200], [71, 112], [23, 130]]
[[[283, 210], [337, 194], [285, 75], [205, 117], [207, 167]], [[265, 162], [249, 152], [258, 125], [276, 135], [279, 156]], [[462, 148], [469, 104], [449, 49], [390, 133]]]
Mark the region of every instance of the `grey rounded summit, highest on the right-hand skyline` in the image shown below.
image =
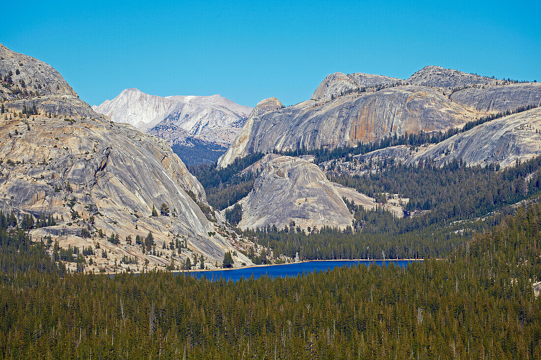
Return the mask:
[[462, 88], [474, 85], [496, 85], [506, 83], [504, 80], [468, 74], [458, 70], [445, 69], [441, 66], [425, 66], [415, 72], [406, 82], [413, 85], [430, 86], [432, 88]]

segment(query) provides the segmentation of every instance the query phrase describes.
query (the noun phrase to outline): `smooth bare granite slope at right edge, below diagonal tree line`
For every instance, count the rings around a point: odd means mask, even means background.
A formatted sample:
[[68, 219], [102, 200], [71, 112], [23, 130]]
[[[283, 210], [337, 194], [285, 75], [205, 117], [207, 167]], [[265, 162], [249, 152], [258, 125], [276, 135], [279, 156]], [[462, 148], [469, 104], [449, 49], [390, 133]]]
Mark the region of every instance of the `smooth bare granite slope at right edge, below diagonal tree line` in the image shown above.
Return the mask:
[[408, 162], [432, 158], [437, 164], [462, 159], [468, 165], [497, 163], [502, 168], [541, 155], [541, 108], [476, 126], [414, 154]]

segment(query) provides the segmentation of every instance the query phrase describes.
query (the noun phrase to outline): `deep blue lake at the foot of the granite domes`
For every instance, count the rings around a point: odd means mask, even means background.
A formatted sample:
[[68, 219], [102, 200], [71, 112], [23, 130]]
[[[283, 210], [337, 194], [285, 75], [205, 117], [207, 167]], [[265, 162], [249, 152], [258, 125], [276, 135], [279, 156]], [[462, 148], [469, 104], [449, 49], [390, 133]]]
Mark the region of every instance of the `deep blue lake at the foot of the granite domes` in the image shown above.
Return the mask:
[[240, 278], [259, 278], [260, 276], [268, 276], [270, 278], [276, 277], [291, 277], [297, 276], [306, 272], [319, 272], [333, 270], [334, 268], [340, 268], [342, 266], [358, 266], [362, 265], [388, 265], [394, 263], [401, 267], [406, 266], [408, 263], [414, 262], [412, 260], [327, 260], [327, 261], [309, 261], [305, 263], [283, 264], [283, 265], [268, 265], [268, 266], [255, 266], [253, 268], [240, 268], [232, 270], [212, 270], [212, 271], [190, 271], [185, 274], [194, 276], [198, 279], [205, 277], [209, 280], [213, 278], [224, 278], [227, 280], [237, 281]]

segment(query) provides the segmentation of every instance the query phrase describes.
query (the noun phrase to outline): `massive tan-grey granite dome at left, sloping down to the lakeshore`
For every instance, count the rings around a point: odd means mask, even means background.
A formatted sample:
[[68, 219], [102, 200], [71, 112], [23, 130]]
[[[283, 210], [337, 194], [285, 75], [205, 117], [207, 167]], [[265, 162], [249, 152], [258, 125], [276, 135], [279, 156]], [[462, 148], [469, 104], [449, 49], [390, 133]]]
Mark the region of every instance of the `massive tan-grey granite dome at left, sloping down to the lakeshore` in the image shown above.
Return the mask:
[[[31, 74], [39, 61], [28, 61], [31, 66], [22, 66], [21, 74], [42, 76]], [[5, 68], [3, 59], [0, 63]], [[58, 91], [70, 92], [61, 77], [58, 81]], [[57, 117], [18, 117], [11, 109], [33, 100], [30, 96], [4, 101], [8, 119], [0, 117], [0, 210], [19, 217], [52, 215], [58, 224], [32, 230], [34, 238], [52, 236], [61, 246], [95, 248], [99, 243], [111, 261], [129, 256], [140, 264], [164, 266], [172, 258], [181, 264], [197, 254], [212, 268], [225, 251], [235, 249], [225, 219], [210, 208], [202, 185], [165, 141], [100, 117], [73, 94], [41, 95], [42, 103], [56, 106]], [[84, 111], [88, 116], [81, 116]], [[151, 216], [153, 206], [159, 210], [162, 203], [169, 214]], [[117, 234], [120, 244], [98, 237], [97, 229], [108, 237]], [[149, 232], [163, 256], [135, 244], [137, 235]], [[131, 244], [124, 240], [128, 235]], [[170, 245], [175, 241], [187, 248], [175, 254]], [[234, 262], [250, 264], [242, 254]]]

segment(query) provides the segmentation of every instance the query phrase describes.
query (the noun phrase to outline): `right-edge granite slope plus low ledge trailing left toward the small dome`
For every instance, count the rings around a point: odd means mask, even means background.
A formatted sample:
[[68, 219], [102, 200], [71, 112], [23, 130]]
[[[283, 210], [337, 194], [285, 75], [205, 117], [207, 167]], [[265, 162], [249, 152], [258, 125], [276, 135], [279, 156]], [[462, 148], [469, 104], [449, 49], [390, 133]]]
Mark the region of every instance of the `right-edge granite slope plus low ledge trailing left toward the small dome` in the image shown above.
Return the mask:
[[494, 119], [454, 135], [438, 144], [417, 147], [398, 145], [355, 155], [354, 161], [328, 161], [320, 166], [326, 172], [363, 175], [367, 164], [380, 161], [418, 164], [420, 159], [432, 159], [436, 165], [453, 159], [469, 166], [499, 164], [512, 166], [541, 155], [541, 108], [530, 109]]

